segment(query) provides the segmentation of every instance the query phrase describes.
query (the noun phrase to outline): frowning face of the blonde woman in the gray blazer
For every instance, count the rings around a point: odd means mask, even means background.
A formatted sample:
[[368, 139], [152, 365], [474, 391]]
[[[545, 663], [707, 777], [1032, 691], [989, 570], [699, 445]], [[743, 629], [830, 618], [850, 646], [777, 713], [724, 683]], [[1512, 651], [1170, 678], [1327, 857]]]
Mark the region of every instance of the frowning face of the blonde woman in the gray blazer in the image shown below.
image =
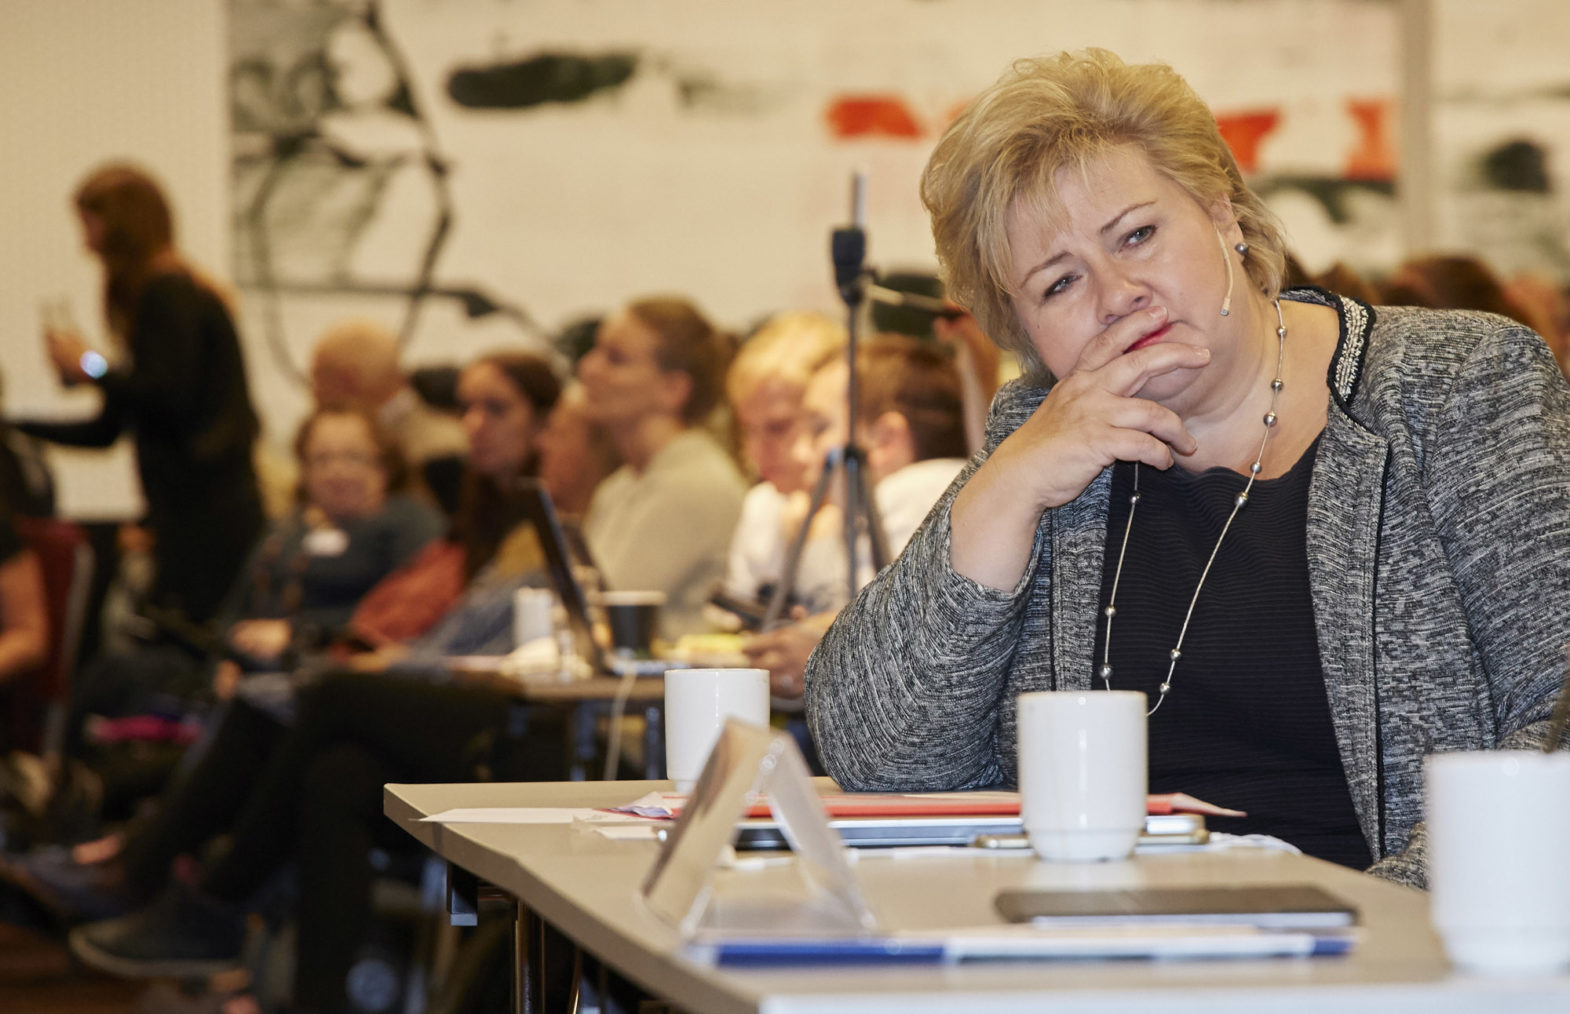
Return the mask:
[[[1086, 344], [1129, 314], [1160, 308], [1165, 323], [1129, 334], [1126, 352], [1156, 342], [1210, 348], [1212, 366], [1237, 339], [1237, 316], [1221, 316], [1226, 261], [1242, 240], [1231, 204], [1206, 210], [1134, 148], [1119, 148], [1085, 173], [1057, 177], [1061, 228], [1049, 229], [1025, 202], [1010, 210], [1014, 312], [1055, 377], [1074, 372]], [[1234, 301], [1251, 286], [1232, 262]], [[1141, 325], [1143, 328], [1143, 325]], [[1123, 336], [1119, 334], [1119, 339]], [[1206, 370], [1152, 378], [1138, 397], [1187, 405]]]

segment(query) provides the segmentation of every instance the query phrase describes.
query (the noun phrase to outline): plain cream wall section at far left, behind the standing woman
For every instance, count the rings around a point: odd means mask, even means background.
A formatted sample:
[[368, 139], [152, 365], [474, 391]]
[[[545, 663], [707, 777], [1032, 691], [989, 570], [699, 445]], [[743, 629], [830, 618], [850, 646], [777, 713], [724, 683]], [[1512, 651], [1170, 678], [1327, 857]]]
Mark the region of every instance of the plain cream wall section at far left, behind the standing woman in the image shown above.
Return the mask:
[[[99, 272], [82, 248], [71, 195], [99, 162], [133, 159], [168, 184], [181, 243], [223, 275], [229, 264], [228, 60], [218, 0], [0, 0], [0, 369], [5, 410], [91, 414], [66, 396], [39, 337], [41, 298], [68, 297], [102, 341]], [[124, 446], [60, 455], [61, 509], [124, 516], [140, 493]]]

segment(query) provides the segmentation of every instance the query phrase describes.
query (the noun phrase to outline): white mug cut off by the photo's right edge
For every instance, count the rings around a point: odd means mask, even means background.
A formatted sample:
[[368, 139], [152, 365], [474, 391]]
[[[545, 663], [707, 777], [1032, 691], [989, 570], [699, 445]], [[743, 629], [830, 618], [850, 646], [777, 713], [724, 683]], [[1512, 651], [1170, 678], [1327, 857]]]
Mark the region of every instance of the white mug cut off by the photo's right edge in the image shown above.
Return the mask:
[[1424, 774], [1444, 953], [1479, 973], [1570, 967], [1570, 753], [1437, 753]]

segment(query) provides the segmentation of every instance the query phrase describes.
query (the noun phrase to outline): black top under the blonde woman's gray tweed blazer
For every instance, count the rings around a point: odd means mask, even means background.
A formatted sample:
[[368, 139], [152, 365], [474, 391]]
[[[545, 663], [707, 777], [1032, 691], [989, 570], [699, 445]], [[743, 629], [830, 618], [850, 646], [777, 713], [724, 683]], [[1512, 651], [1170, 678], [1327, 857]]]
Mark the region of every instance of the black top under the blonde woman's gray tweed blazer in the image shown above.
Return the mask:
[[[1309, 855], [1372, 860], [1330, 720], [1308, 582], [1308, 482], [1316, 441], [1280, 479], [1254, 482], [1199, 592], [1165, 703], [1149, 720], [1152, 793], [1190, 793], [1247, 818], [1214, 830], [1269, 833]], [[1112, 688], [1154, 703], [1184, 612], [1247, 485], [1229, 469], [1140, 468], [1140, 504], [1112, 626]], [[1134, 466], [1113, 469], [1101, 604], [1118, 564]], [[1107, 636], [1096, 626], [1094, 672]]]

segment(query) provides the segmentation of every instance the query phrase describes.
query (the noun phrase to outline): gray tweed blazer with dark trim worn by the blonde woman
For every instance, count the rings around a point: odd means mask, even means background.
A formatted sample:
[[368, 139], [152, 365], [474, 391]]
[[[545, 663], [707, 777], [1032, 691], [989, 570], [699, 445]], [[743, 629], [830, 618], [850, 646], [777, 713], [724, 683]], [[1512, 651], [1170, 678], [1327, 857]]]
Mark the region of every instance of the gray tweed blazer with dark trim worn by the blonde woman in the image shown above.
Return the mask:
[[[1336, 742], [1372, 871], [1421, 887], [1422, 758], [1540, 747], [1565, 675], [1570, 386], [1502, 317], [1287, 298], [1341, 314], [1308, 502]], [[948, 562], [955, 493], [1044, 397], [999, 392], [986, 447], [812, 656], [807, 719], [845, 788], [1013, 783], [1016, 697], [1091, 686], [1110, 471], [1042, 515], [1017, 587]]]

